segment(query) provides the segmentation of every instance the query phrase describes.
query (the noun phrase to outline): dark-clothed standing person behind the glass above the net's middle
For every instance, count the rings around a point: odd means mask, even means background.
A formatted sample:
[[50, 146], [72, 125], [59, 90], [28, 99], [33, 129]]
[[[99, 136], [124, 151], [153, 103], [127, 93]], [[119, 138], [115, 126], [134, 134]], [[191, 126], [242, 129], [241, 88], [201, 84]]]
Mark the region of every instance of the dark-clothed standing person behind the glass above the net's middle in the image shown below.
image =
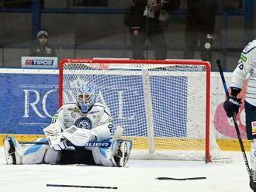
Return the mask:
[[133, 59], [144, 60], [144, 43], [148, 38], [156, 60], [165, 60], [167, 44], [161, 22], [178, 9], [179, 0], [133, 0], [126, 26], [130, 28]]

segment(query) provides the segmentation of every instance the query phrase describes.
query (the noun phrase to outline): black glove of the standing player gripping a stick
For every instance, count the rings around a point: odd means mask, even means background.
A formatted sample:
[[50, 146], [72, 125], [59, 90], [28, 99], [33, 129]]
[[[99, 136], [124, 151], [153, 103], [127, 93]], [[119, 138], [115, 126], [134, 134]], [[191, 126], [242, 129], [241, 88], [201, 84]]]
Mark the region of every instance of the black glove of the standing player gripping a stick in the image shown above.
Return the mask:
[[241, 104], [242, 102], [240, 98], [236, 98], [233, 96], [230, 96], [230, 98], [227, 98], [227, 100], [223, 104], [223, 108], [227, 113], [227, 117], [230, 118], [234, 113], [237, 114]]

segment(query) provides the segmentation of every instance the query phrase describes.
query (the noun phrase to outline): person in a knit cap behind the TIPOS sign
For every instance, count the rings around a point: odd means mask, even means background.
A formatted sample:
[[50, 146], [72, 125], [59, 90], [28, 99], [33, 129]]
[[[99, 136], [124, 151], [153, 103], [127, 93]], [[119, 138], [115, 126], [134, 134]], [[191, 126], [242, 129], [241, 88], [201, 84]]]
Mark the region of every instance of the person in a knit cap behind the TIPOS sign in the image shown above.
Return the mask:
[[36, 44], [29, 51], [29, 56], [56, 57], [55, 50], [52, 46], [50, 46], [48, 38], [49, 33], [46, 30], [40, 30], [36, 35]]

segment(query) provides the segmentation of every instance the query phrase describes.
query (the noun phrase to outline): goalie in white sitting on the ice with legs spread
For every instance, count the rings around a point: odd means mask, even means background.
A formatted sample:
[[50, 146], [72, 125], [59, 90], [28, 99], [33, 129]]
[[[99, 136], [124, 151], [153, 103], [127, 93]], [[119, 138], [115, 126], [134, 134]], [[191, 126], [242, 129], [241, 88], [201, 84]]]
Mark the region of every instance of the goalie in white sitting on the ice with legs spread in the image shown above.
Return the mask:
[[[80, 87], [76, 103], [63, 105], [52, 122], [43, 129], [47, 138], [36, 144], [21, 145], [14, 137], [4, 139], [7, 164], [85, 163], [124, 166], [130, 156], [131, 142], [120, 140], [123, 129], [111, 135], [109, 109], [97, 101], [93, 87]], [[111, 147], [88, 147], [89, 142], [111, 141]], [[46, 144], [42, 143], [46, 142]]]

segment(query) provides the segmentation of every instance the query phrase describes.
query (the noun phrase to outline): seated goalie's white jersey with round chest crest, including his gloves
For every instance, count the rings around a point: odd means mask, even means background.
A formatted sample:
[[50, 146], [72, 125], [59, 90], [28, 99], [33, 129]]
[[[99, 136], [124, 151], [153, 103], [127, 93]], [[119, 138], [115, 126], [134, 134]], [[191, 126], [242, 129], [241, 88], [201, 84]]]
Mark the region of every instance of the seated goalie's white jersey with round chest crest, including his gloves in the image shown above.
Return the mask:
[[87, 142], [109, 139], [112, 129], [112, 117], [106, 105], [96, 102], [92, 108], [82, 113], [75, 103], [65, 104], [52, 118], [52, 122], [43, 132], [54, 146], [67, 139], [74, 146], [85, 146]]

